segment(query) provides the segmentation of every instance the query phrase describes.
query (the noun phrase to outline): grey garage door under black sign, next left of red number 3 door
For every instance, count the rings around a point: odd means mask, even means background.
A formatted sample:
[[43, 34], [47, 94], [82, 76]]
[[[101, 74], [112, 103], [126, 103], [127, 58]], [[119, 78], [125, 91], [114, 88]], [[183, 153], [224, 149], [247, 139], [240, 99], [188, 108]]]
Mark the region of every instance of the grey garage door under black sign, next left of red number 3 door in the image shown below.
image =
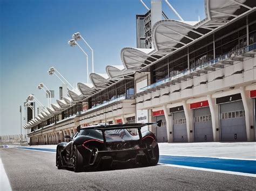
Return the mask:
[[173, 142], [187, 142], [187, 125], [184, 111], [173, 114]]

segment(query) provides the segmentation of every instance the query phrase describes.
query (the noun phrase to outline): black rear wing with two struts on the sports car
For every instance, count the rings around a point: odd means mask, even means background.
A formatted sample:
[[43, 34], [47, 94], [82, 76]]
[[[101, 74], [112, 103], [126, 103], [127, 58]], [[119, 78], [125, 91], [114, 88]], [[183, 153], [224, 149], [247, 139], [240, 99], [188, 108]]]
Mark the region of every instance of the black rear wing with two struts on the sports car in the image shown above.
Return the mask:
[[[116, 129], [138, 129], [139, 139], [142, 141], [142, 127], [146, 125], [157, 125], [161, 126], [162, 121], [159, 120], [156, 123], [133, 123], [133, 124], [116, 124], [116, 125], [97, 125], [97, 126], [90, 126], [88, 128], [83, 129], [95, 129], [102, 131], [104, 144], [106, 144], [106, 137], [105, 131], [107, 130], [116, 130]], [[77, 127], [77, 131], [80, 132], [80, 125]]]

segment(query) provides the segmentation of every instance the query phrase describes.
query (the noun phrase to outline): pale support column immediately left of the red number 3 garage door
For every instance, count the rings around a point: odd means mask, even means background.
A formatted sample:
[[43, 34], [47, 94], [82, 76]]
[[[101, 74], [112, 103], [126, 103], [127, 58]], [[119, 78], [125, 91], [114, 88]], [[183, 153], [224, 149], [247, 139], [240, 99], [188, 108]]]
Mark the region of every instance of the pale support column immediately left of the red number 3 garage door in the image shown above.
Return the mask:
[[186, 117], [187, 125], [187, 142], [193, 142], [193, 120], [192, 120], [192, 111], [190, 110], [189, 104], [186, 101], [183, 101], [183, 108]]

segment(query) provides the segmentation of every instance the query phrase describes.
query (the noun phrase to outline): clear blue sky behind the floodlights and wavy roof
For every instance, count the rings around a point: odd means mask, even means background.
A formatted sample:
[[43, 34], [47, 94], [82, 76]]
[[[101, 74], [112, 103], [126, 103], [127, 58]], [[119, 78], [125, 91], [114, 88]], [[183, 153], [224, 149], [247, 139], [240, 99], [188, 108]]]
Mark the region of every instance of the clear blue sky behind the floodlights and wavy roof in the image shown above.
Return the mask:
[[[144, 2], [150, 7], [150, 0]], [[203, 0], [169, 2], [184, 20], [205, 18]], [[162, 6], [169, 19], [178, 19], [164, 1]], [[122, 48], [136, 47], [136, 14], [145, 12], [139, 0], [0, 0], [0, 135], [20, 132], [19, 105], [29, 94], [47, 106], [39, 83], [55, 90], [55, 103], [61, 83], [48, 75], [49, 67], [71, 84], [86, 82], [86, 58], [68, 45], [73, 33], [94, 49], [95, 72], [105, 73], [107, 65], [122, 65]]]

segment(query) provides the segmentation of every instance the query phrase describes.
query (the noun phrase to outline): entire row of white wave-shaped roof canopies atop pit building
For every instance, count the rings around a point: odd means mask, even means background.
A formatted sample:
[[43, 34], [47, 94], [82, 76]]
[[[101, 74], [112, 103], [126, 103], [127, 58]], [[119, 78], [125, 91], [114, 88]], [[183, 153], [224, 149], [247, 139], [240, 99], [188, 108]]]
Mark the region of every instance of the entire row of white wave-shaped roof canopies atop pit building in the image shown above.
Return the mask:
[[[68, 91], [69, 97], [57, 100], [58, 105], [51, 104], [52, 108], [47, 108], [49, 113], [42, 112], [41, 116], [49, 118], [71, 107], [74, 103], [84, 101], [111, 84], [131, 78], [136, 71], [149, 67], [166, 55], [203, 38], [206, 34], [239, 17], [242, 13], [241, 11], [238, 13], [241, 7], [246, 11], [255, 9], [245, 5], [245, 2], [246, 0], [205, 0], [206, 18], [200, 22], [160, 20], [152, 26], [153, 48], [123, 48], [121, 50], [123, 65], [106, 66], [106, 74], [91, 73], [92, 83], [77, 83], [77, 89]], [[41, 116], [37, 118], [42, 119]], [[28, 122], [28, 127], [38, 123], [38, 120], [35, 120]]]

